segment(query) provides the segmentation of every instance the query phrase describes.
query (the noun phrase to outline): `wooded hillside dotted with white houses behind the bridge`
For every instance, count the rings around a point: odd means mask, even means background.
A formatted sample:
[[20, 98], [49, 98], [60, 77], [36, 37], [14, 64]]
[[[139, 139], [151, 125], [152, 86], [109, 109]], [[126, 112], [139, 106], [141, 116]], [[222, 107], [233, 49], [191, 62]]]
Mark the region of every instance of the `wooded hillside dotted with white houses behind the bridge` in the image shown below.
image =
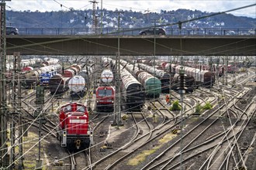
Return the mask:
[[[192, 11], [188, 9], [178, 9], [176, 11], [161, 11], [160, 13], [142, 13], [133, 11], [120, 12], [121, 28], [142, 28], [147, 26], [175, 23], [196, 19], [210, 15], [209, 12]], [[102, 28], [116, 28], [118, 26], [118, 12], [98, 9], [96, 12], [98, 26]], [[102, 15], [102, 24], [101, 24]], [[86, 11], [59, 11], [59, 12], [6, 12], [7, 26], [17, 28], [91, 28], [92, 10]], [[256, 19], [221, 14], [192, 22], [186, 22], [183, 28], [232, 28], [251, 29], [256, 26]], [[175, 27], [175, 26], [174, 26]]]

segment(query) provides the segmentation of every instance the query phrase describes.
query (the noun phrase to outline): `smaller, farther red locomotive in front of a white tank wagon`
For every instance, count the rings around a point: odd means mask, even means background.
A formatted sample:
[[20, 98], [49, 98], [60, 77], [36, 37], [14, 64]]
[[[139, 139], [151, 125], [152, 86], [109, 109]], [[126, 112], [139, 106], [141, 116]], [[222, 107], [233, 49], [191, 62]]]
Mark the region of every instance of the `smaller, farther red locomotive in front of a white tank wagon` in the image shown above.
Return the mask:
[[115, 87], [97, 87], [96, 89], [96, 109], [98, 111], [113, 111], [115, 100]]

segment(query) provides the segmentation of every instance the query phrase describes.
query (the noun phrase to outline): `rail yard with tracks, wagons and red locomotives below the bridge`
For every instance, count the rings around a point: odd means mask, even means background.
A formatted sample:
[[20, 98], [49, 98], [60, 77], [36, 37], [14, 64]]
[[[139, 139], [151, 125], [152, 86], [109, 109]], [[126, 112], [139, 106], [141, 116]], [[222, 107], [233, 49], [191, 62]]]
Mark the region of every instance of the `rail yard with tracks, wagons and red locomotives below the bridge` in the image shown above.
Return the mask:
[[255, 63], [199, 58], [30, 57], [6, 76], [9, 167], [254, 169]]

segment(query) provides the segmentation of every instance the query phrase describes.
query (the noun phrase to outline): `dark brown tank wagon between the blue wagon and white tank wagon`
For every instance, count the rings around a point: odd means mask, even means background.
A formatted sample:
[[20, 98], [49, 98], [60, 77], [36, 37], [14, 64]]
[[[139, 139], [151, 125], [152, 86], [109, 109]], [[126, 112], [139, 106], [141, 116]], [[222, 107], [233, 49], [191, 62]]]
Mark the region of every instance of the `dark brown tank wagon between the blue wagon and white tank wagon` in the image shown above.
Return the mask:
[[68, 90], [68, 81], [71, 77], [55, 74], [49, 80], [49, 90], [51, 94], [61, 94]]

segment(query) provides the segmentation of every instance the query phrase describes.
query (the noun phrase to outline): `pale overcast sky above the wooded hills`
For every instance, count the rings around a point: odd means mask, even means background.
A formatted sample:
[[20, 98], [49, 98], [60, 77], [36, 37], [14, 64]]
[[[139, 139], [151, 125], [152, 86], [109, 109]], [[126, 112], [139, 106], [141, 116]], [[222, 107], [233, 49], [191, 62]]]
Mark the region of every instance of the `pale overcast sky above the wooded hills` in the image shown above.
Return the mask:
[[[93, 0], [12, 0], [6, 1], [6, 9], [13, 11], [60, 11], [74, 8], [79, 10], [92, 9]], [[243, 8], [230, 12], [233, 15], [256, 18], [256, 0], [97, 0], [96, 7], [108, 10], [133, 10], [137, 12], [160, 12], [161, 9], [171, 11], [178, 8], [200, 10], [202, 12], [224, 12], [246, 5]], [[101, 4], [102, 2], [102, 4]], [[62, 5], [62, 7], [61, 7]]]

